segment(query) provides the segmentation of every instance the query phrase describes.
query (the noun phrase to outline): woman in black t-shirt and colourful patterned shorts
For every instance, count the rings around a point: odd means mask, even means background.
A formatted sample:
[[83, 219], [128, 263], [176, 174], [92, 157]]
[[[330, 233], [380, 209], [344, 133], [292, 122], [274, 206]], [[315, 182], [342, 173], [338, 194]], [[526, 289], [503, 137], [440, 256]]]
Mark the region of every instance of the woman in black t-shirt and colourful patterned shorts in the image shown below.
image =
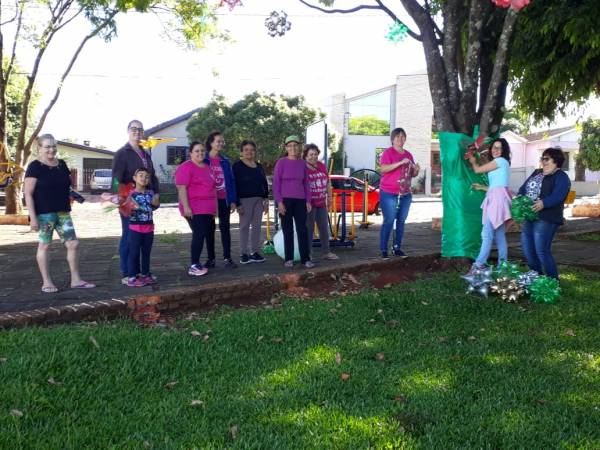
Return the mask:
[[79, 241], [71, 219], [71, 172], [67, 164], [57, 158], [56, 140], [51, 134], [37, 138], [38, 157], [25, 172], [25, 202], [29, 210], [31, 229], [39, 232], [37, 263], [42, 275], [42, 292], [58, 291], [49, 269], [48, 248], [54, 230], [67, 248], [67, 262], [71, 271], [71, 288], [95, 287], [79, 275]]

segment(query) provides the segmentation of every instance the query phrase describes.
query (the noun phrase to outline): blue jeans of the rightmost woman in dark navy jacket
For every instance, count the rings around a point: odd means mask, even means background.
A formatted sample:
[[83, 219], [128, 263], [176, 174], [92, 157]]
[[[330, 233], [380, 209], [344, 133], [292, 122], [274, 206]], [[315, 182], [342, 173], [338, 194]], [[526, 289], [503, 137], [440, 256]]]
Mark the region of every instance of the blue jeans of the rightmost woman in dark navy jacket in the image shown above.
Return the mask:
[[558, 224], [545, 220], [534, 222], [526, 220], [521, 231], [521, 247], [529, 268], [556, 279], [558, 279], [558, 269], [551, 247], [558, 227]]

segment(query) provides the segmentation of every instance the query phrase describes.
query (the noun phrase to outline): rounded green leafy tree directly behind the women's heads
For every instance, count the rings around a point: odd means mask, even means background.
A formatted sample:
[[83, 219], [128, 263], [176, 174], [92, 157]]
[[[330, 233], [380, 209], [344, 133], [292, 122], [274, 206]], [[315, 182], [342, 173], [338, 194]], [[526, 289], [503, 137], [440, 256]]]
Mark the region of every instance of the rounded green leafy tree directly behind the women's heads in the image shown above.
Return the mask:
[[215, 95], [190, 119], [187, 132], [191, 141], [204, 141], [212, 131], [221, 131], [227, 154], [234, 158], [239, 156], [241, 141], [251, 139], [256, 142], [261, 162], [272, 166], [283, 153], [286, 136], [301, 135], [323, 117], [322, 112], [306, 106], [302, 96], [253, 92], [230, 105], [223, 96]]

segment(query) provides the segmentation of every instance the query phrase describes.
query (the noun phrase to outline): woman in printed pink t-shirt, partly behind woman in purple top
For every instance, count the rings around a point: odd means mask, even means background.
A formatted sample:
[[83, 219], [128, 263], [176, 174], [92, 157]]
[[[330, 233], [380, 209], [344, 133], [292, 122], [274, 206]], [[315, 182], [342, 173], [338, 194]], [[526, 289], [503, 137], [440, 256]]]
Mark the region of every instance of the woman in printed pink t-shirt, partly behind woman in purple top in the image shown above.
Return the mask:
[[312, 206], [307, 215], [308, 248], [312, 253], [312, 242], [315, 231], [315, 222], [319, 228], [319, 241], [323, 259], [338, 259], [335, 253], [329, 250], [329, 215], [328, 205], [331, 204], [331, 184], [325, 164], [318, 160], [319, 147], [315, 144], [306, 144], [302, 158], [306, 161], [308, 169], [308, 185], [310, 186], [310, 204]]

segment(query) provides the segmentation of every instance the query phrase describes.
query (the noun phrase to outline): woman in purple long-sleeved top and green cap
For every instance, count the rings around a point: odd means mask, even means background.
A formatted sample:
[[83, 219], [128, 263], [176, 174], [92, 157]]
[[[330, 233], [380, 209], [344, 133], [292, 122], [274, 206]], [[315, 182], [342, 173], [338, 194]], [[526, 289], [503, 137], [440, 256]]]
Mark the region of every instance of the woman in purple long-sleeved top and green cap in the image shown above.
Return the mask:
[[306, 214], [310, 212], [310, 186], [308, 169], [300, 158], [300, 139], [288, 136], [285, 139], [287, 156], [275, 164], [273, 174], [273, 196], [277, 202], [277, 210], [281, 217], [283, 242], [285, 247], [285, 267], [294, 266], [294, 222], [298, 234], [300, 260], [305, 267], [315, 264], [310, 260]]

